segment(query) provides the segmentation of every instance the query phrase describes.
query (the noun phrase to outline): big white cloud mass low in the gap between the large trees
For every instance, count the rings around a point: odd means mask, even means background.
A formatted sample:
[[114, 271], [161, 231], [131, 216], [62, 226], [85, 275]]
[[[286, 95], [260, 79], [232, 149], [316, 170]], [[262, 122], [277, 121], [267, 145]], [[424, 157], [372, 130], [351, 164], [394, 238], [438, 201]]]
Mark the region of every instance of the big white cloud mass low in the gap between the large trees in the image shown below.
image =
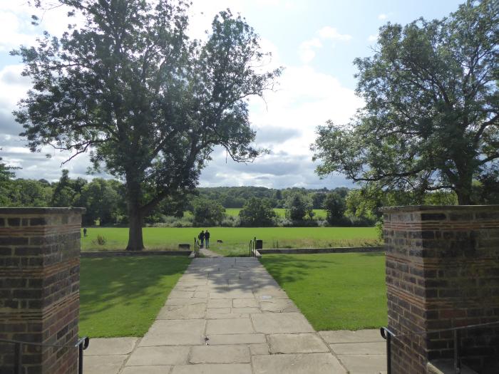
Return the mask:
[[350, 187], [351, 182], [342, 176], [320, 180], [314, 174], [309, 145], [315, 140], [317, 125], [328, 119], [346, 123], [363, 105], [354, 90], [310, 66], [287, 66], [279, 78], [279, 88], [267, 92], [264, 99], [252, 98], [249, 119], [257, 131], [256, 145], [269, 148], [271, 153], [246, 165], [230, 157], [226, 162], [225, 152], [217, 150], [202, 172], [201, 185]]

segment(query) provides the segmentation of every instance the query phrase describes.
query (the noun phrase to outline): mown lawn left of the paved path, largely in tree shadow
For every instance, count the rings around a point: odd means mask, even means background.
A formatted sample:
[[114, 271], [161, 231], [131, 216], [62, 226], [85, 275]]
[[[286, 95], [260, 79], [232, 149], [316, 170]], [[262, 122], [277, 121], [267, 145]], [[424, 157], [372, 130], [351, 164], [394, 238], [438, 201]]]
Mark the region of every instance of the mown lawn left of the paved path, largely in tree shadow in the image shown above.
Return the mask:
[[143, 336], [189, 263], [180, 256], [81, 259], [80, 336]]

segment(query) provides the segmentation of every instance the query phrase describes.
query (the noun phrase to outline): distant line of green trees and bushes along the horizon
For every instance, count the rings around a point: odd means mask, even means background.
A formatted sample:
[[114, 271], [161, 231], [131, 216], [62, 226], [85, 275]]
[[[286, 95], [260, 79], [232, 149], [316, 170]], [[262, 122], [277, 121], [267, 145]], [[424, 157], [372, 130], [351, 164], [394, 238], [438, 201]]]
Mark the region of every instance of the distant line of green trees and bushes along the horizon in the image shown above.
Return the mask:
[[[473, 183], [477, 204], [499, 203], [498, 176]], [[455, 192], [421, 194], [379, 189], [272, 189], [266, 187], [207, 187], [180, 199], [165, 199], [145, 217], [157, 226], [371, 226], [381, 219], [379, 207], [408, 204], [457, 204]], [[125, 186], [118, 180], [71, 178], [63, 170], [57, 182], [15, 177], [0, 159], [0, 206], [85, 207], [83, 224], [128, 225]], [[238, 217], [225, 209], [240, 208]], [[279, 217], [274, 208], [286, 209]], [[314, 209], [325, 209], [317, 217]]]

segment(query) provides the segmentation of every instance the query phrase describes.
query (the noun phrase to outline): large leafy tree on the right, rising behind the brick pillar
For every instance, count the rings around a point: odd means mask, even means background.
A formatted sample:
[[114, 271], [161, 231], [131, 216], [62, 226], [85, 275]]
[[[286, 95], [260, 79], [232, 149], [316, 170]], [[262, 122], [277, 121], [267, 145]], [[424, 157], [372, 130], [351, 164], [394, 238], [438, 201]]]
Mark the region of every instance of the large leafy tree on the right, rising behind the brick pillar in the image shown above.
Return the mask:
[[357, 58], [366, 105], [348, 125], [318, 128], [319, 175], [371, 187], [453, 190], [499, 168], [499, 5], [467, 1], [441, 20], [381, 27], [374, 56]]

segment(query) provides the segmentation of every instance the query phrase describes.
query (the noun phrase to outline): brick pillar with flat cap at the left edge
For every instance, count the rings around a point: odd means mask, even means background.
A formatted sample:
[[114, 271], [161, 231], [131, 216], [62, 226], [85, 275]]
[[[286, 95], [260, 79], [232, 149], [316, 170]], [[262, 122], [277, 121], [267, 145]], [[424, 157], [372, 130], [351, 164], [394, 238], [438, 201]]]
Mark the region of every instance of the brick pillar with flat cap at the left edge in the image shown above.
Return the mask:
[[[0, 208], [0, 338], [43, 344], [78, 340], [82, 208]], [[71, 374], [78, 350], [24, 346], [25, 374]], [[0, 343], [0, 374], [14, 346]]]

